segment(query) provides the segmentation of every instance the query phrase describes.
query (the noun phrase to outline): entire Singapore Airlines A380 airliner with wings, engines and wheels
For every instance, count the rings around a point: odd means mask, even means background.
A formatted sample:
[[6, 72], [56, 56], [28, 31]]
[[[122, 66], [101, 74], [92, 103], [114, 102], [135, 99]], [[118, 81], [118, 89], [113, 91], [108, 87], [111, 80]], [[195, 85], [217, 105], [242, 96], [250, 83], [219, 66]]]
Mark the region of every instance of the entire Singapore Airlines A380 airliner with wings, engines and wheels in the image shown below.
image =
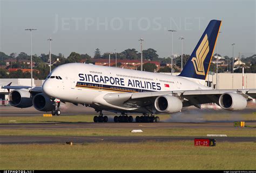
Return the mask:
[[14, 89], [8, 99], [12, 106], [34, 106], [60, 115], [60, 102], [95, 108], [95, 122], [107, 122], [102, 110], [120, 113], [114, 122], [132, 122], [129, 113], [141, 113], [136, 122], [159, 122], [154, 114], [176, 113], [183, 107], [217, 103], [226, 110], [242, 110], [256, 98], [256, 89], [213, 90], [205, 87], [217, 41], [220, 20], [211, 20], [178, 76], [127, 70], [82, 63], [60, 65], [42, 87], [4, 86]]

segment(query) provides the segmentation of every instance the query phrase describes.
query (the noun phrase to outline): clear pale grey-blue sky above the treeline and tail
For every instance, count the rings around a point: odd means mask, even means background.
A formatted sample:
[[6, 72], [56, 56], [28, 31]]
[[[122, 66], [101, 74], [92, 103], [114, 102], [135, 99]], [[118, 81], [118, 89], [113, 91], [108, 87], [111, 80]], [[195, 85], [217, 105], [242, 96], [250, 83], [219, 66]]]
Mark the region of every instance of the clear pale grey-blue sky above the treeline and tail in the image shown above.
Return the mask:
[[[159, 57], [173, 53], [191, 54], [211, 19], [222, 20], [218, 53], [234, 57], [252, 55], [256, 47], [256, 4], [250, 1], [28, 1], [0, 0], [0, 52], [48, 54], [51, 37], [53, 54], [71, 52], [93, 56], [104, 52], [155, 49]], [[214, 51], [217, 52], [217, 49]]]

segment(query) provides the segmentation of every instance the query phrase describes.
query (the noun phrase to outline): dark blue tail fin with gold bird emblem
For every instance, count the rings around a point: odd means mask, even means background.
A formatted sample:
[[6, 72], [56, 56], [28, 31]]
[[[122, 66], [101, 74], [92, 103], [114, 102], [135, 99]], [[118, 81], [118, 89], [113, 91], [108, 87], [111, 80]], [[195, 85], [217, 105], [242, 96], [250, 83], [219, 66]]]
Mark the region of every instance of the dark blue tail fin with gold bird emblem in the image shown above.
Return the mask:
[[221, 21], [211, 20], [198, 41], [198, 44], [188, 59], [180, 77], [205, 80], [214, 51], [215, 43], [218, 38]]

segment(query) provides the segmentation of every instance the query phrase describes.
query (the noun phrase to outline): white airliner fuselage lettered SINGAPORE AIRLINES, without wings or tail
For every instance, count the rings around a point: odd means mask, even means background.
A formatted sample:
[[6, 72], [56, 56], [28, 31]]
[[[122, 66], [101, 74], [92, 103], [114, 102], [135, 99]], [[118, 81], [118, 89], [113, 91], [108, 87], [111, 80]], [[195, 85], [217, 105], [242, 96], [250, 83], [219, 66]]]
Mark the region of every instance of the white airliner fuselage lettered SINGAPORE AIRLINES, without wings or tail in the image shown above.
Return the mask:
[[201, 83], [167, 74], [71, 63], [58, 66], [49, 74], [43, 92], [66, 102], [92, 104], [107, 93], [209, 89]]

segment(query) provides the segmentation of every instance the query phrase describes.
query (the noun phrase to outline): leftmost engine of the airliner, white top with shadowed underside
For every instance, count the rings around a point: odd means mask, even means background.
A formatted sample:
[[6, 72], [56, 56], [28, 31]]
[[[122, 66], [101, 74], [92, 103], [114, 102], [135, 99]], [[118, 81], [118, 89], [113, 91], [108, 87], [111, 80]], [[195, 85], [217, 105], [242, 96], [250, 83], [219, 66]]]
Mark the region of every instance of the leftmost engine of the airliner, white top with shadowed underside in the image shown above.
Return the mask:
[[28, 108], [32, 106], [31, 94], [28, 89], [15, 89], [8, 95], [11, 106], [18, 108]]

